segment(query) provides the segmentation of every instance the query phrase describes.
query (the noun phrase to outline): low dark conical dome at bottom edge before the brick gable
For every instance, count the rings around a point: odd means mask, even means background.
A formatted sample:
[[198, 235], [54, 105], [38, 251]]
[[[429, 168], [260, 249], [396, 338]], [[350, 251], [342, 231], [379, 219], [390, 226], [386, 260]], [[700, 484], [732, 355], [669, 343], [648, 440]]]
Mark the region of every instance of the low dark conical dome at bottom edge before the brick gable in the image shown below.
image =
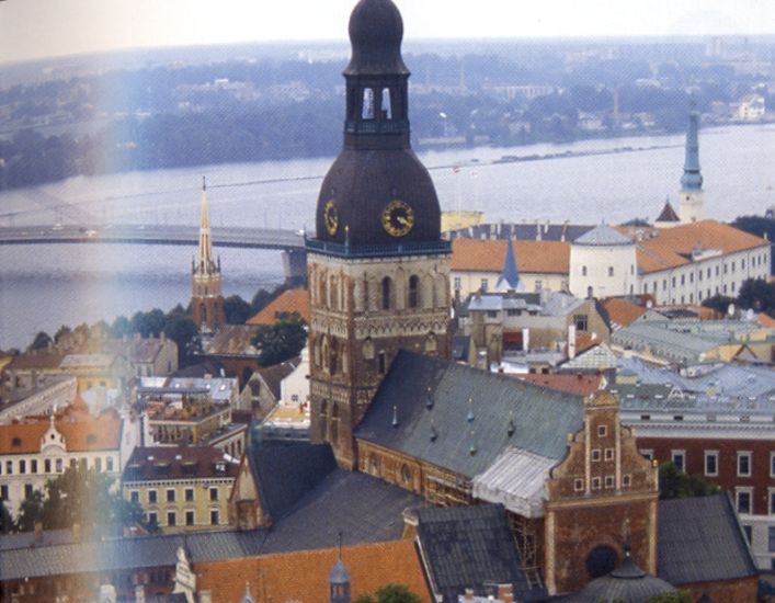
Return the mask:
[[646, 603], [657, 594], [674, 592], [669, 582], [646, 573], [635, 565], [629, 550], [614, 571], [595, 578], [578, 593], [561, 599], [562, 603]]

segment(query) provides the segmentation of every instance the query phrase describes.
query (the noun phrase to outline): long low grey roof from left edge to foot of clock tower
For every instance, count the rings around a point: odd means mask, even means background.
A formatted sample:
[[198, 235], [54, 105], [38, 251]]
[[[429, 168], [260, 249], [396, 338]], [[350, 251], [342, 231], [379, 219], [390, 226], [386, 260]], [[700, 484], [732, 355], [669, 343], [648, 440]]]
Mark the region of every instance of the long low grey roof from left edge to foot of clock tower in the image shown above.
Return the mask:
[[175, 551], [183, 545], [196, 564], [329, 548], [338, 542], [340, 531], [345, 544], [396, 541], [403, 532], [403, 510], [420, 504], [422, 500], [412, 492], [365, 474], [335, 469], [269, 528], [14, 548], [0, 555], [0, 580], [169, 567], [174, 565]]

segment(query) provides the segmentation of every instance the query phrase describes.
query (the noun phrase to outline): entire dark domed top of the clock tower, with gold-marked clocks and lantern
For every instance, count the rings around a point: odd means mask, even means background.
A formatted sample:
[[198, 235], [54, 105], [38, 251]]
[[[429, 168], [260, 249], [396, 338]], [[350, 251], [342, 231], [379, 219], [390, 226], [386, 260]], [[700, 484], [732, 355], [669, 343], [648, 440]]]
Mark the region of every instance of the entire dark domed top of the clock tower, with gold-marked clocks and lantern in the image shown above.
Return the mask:
[[411, 253], [415, 243], [440, 243], [436, 191], [409, 139], [402, 36], [401, 14], [390, 0], [361, 0], [353, 9], [344, 145], [320, 187], [310, 249], [324, 242], [347, 255], [374, 246]]

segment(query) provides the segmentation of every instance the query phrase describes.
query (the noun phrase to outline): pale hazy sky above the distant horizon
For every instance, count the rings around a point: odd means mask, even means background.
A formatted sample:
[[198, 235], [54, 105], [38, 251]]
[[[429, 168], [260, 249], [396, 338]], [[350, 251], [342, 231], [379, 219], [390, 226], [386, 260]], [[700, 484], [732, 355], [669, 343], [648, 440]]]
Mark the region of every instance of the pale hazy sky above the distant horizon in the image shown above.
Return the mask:
[[[346, 39], [355, 0], [0, 0], [0, 61], [180, 44]], [[774, 0], [396, 0], [406, 36], [773, 34]]]

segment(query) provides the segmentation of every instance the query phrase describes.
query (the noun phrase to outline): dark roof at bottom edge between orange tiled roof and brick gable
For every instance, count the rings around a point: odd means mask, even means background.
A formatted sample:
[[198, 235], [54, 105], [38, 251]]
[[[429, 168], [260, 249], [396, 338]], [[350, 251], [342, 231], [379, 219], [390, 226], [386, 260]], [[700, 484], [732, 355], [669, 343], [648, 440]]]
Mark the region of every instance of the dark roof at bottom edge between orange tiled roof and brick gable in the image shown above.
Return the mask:
[[531, 589], [520, 570], [505, 509], [500, 504], [418, 509], [418, 541], [434, 593], [457, 601], [466, 589], [493, 594], [511, 583], [516, 601], [543, 601], [543, 588]]

